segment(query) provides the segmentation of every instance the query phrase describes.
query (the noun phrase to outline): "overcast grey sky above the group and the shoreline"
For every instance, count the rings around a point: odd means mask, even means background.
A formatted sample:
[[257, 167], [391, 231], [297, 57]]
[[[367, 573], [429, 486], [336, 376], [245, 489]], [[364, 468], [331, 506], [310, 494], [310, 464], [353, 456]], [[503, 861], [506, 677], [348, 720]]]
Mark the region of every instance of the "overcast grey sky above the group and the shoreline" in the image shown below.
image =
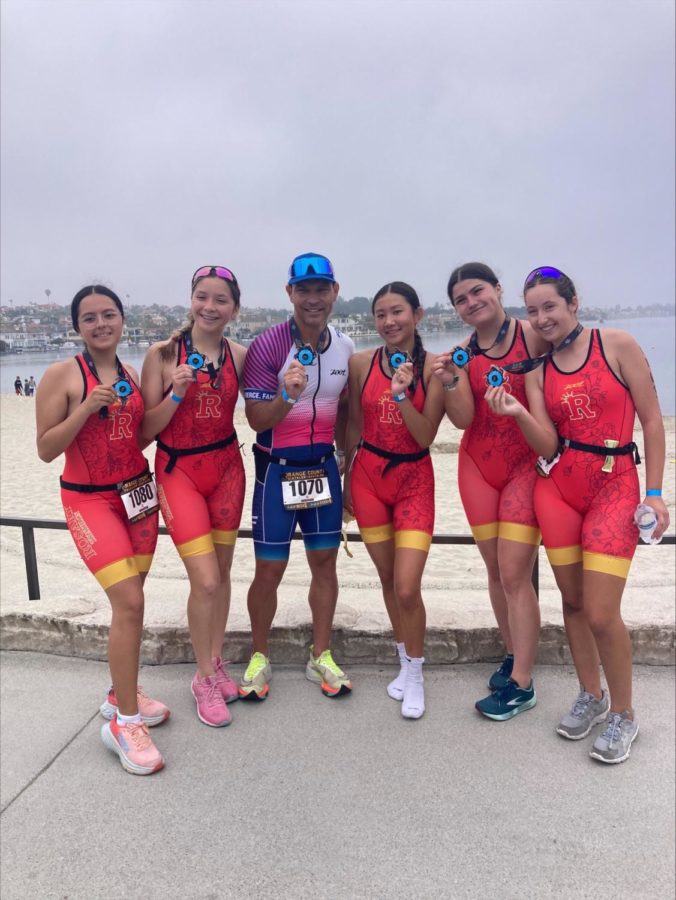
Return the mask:
[[183, 303], [199, 265], [281, 306], [424, 304], [556, 265], [594, 306], [674, 300], [672, 0], [2, 0], [0, 301], [102, 280]]

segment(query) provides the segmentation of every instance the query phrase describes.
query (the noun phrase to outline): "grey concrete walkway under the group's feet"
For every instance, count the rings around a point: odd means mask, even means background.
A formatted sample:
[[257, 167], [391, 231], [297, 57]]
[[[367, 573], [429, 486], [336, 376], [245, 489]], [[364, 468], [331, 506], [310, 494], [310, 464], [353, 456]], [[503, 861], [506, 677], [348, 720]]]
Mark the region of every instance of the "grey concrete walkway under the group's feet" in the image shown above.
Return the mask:
[[566, 665], [539, 667], [537, 707], [506, 723], [473, 709], [488, 665], [429, 667], [419, 722], [388, 667], [351, 668], [334, 701], [277, 666], [225, 729], [197, 720], [191, 666], [154, 666], [167, 766], [138, 778], [99, 739], [104, 663], [0, 664], [3, 900], [674, 896], [672, 668], [636, 670], [641, 735], [603, 766], [553, 730]]

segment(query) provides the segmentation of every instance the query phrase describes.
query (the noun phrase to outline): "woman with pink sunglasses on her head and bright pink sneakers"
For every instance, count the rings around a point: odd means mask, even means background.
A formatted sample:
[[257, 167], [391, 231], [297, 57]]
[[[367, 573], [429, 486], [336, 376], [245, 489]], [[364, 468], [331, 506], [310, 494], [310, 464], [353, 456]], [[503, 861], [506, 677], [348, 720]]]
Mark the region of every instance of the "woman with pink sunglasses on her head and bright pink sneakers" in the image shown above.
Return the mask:
[[223, 662], [230, 569], [244, 504], [233, 416], [246, 351], [223, 332], [240, 288], [225, 266], [192, 277], [187, 323], [154, 344], [143, 364], [143, 432], [157, 437], [162, 517], [188, 573], [188, 625], [197, 672], [191, 690], [205, 725], [229, 725], [237, 684]]

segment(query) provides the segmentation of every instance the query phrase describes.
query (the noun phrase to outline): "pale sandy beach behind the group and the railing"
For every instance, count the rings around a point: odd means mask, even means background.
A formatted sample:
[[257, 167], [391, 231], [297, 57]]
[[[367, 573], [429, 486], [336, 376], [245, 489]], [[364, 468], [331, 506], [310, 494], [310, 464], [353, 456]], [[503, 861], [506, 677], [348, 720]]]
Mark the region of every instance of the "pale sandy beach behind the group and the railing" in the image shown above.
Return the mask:
[[[24, 516], [39, 519], [63, 520], [59, 498], [59, 474], [63, 459], [45, 464], [35, 449], [34, 400], [26, 397], [0, 399], [2, 451], [0, 509], [4, 516]], [[247, 497], [242, 528], [251, 527], [251, 493], [253, 488], [253, 457], [250, 450], [253, 433], [244, 413], [236, 412], [236, 426], [244, 445], [247, 472]], [[670, 533], [674, 533], [674, 419], [665, 419], [667, 431], [667, 466], [664, 497], [672, 514]], [[432, 448], [436, 474], [436, 531], [437, 533], [468, 534], [469, 529], [457, 490], [457, 448], [461, 433], [445, 419]], [[636, 441], [643, 448], [640, 430]], [[154, 447], [146, 451], [153, 461]], [[644, 477], [644, 467], [639, 467]], [[350, 530], [355, 530], [354, 523]], [[107, 600], [92, 576], [82, 565], [70, 535], [65, 531], [38, 530], [38, 554], [42, 597], [50, 602], [60, 599], [76, 615], [85, 619]], [[3, 611], [27, 611], [25, 567], [18, 528], [3, 527], [2, 572], [0, 591]], [[349, 558], [341, 550], [338, 558], [340, 597], [336, 624], [377, 631], [387, 628], [387, 618], [380, 597], [379, 582], [373, 565], [361, 543], [351, 543], [354, 554]], [[674, 561], [673, 546], [640, 547], [629, 576], [623, 609], [628, 624], [646, 622], [649, 605], [651, 624], [673, 625], [674, 621]], [[544, 550], [540, 550], [540, 600], [543, 623], [560, 624], [561, 612], [558, 592]], [[240, 539], [233, 566], [232, 611], [229, 628], [248, 629], [246, 592], [253, 572], [253, 547], [248, 539]], [[492, 627], [484, 568], [478, 551], [472, 546], [433, 546], [423, 582], [423, 596], [428, 605], [428, 624], [453, 627], [459, 622], [474, 627]], [[308, 620], [307, 605], [297, 603], [307, 591], [307, 565], [302, 544], [294, 542], [291, 560], [279, 594], [278, 617], [285, 601], [293, 601], [293, 616]], [[162, 624], [176, 621], [185, 606], [187, 582], [183, 567], [168, 537], [160, 537], [157, 553], [146, 585], [146, 622]], [[39, 603], [40, 601], [38, 601]], [[290, 603], [289, 603], [290, 605]], [[30, 604], [33, 611], [33, 604]], [[289, 621], [293, 626], [300, 621]]]

